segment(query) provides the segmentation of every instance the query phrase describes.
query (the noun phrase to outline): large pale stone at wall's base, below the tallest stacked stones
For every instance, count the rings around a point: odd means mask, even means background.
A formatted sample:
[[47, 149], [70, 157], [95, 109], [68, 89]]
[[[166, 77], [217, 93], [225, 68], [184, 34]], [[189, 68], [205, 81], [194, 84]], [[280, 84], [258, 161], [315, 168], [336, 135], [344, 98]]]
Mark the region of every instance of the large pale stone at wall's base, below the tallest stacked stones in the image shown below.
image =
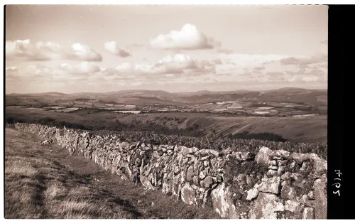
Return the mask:
[[285, 210], [280, 198], [272, 193], [259, 193], [249, 211], [251, 219], [277, 219], [277, 212]]

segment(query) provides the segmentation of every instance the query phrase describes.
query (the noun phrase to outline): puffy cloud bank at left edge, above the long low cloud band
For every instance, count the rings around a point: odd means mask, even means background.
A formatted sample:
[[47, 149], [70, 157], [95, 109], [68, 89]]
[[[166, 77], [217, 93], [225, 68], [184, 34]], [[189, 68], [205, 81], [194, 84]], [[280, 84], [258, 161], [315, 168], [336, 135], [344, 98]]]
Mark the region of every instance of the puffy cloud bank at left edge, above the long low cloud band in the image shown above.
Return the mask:
[[74, 43], [70, 50], [65, 50], [58, 43], [37, 42], [31, 43], [29, 39], [6, 41], [6, 59], [24, 60], [85, 60], [102, 61], [102, 56], [88, 45]]

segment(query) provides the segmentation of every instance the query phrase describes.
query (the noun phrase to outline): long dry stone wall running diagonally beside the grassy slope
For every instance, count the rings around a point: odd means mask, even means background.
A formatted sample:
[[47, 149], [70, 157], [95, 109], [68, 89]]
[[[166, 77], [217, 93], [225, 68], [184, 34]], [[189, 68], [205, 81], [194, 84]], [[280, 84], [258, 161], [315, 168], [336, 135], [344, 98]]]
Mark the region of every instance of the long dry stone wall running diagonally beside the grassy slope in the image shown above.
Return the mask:
[[315, 153], [261, 147], [257, 154], [225, 149], [128, 143], [110, 134], [14, 124], [55, 142], [70, 154], [92, 159], [105, 170], [133, 181], [136, 158], [144, 158], [145, 188], [184, 203], [213, 207], [224, 218], [326, 219], [327, 161]]

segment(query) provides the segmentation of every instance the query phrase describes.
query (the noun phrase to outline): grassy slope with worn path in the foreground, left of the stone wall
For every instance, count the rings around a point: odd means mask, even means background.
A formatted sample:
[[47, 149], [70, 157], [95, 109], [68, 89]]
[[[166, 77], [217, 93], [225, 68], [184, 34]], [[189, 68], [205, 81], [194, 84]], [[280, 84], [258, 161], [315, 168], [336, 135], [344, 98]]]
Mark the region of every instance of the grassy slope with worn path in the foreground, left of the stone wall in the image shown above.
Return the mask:
[[6, 129], [5, 139], [5, 218], [217, 218], [136, 188], [66, 149], [40, 146], [31, 134]]

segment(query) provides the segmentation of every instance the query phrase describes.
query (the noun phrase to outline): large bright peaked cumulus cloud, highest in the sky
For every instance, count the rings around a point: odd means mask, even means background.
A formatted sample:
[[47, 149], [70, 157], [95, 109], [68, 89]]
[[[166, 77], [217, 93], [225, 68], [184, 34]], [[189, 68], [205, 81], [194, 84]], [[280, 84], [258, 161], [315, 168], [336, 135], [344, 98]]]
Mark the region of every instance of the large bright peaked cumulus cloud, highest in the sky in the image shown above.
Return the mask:
[[150, 39], [149, 43], [153, 48], [173, 49], [173, 50], [196, 50], [216, 48], [221, 43], [207, 37], [197, 30], [192, 24], [185, 24], [179, 31], [170, 31], [168, 34], [160, 34]]

